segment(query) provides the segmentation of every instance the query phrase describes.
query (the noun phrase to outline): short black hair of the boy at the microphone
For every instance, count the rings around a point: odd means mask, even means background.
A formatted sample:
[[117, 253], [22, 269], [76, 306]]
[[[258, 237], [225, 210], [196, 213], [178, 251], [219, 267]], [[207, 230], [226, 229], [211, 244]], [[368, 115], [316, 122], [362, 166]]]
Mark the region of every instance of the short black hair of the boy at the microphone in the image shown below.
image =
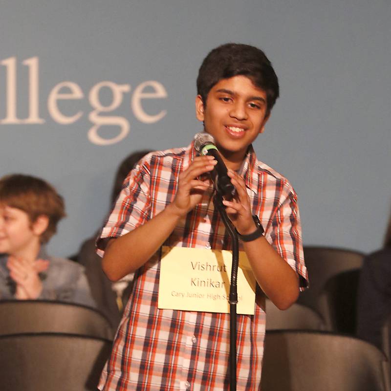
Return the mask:
[[198, 71], [197, 94], [204, 105], [209, 91], [221, 79], [243, 75], [266, 92], [267, 114], [280, 95], [277, 75], [261, 49], [243, 43], [225, 43], [213, 49]]

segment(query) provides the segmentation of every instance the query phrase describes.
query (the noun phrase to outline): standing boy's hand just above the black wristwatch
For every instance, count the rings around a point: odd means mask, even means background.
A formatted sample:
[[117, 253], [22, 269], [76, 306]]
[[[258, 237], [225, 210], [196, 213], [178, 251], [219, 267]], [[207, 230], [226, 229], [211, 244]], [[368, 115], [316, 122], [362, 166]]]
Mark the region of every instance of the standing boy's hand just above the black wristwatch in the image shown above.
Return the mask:
[[235, 171], [228, 170], [231, 183], [235, 186], [236, 195], [232, 201], [223, 200], [226, 212], [235, 228], [241, 235], [255, 231], [256, 226], [251, 213], [250, 197], [247, 194], [243, 178]]

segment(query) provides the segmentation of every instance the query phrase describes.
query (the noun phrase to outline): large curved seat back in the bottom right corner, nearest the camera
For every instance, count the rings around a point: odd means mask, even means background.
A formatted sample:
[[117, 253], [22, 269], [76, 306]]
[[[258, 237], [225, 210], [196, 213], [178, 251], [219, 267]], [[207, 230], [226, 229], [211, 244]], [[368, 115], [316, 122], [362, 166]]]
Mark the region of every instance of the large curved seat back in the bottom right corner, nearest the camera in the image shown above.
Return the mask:
[[390, 391], [389, 362], [358, 338], [322, 331], [266, 331], [262, 391]]

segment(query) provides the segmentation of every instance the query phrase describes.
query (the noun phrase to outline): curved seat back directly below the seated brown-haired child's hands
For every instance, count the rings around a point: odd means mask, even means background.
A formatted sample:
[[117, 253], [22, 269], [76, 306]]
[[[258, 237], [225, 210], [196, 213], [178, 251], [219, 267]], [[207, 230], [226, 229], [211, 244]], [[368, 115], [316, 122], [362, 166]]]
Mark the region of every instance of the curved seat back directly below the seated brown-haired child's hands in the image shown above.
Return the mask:
[[45, 300], [0, 301], [0, 335], [59, 332], [112, 339], [108, 319], [84, 305]]

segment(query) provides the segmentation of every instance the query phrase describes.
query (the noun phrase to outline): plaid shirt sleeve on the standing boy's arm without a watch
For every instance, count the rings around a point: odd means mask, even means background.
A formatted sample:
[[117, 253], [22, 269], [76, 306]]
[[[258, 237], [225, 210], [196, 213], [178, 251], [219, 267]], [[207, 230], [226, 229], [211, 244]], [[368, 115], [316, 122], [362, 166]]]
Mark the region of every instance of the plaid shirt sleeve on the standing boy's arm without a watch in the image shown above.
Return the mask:
[[150, 218], [150, 177], [149, 164], [144, 161], [125, 179], [114, 207], [98, 235], [97, 253], [101, 257], [104, 255], [107, 239], [123, 236]]

